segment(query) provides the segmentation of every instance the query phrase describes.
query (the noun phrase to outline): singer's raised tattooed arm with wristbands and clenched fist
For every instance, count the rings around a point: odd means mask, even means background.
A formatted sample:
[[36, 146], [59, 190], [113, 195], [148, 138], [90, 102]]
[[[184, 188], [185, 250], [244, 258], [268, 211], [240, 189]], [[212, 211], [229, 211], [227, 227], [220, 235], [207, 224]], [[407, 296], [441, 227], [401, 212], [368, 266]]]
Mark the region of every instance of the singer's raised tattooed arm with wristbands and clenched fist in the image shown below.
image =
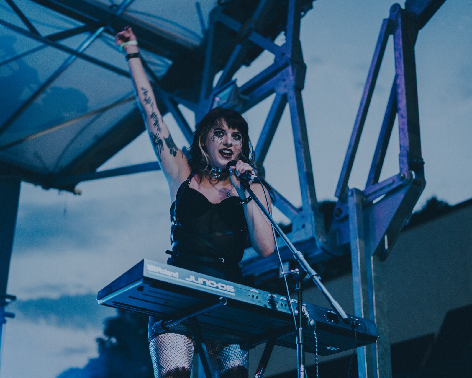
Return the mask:
[[[136, 36], [131, 27], [126, 26], [122, 32], [119, 32], [115, 36], [115, 41], [118, 45], [129, 43], [123, 46], [126, 54], [139, 53], [137, 42], [133, 42], [136, 41]], [[160, 167], [169, 182], [170, 196], [174, 199], [180, 183], [190, 174], [187, 158], [175, 145], [169, 129], [162, 119], [162, 115], [157, 108], [151, 83], [144, 71], [141, 59], [139, 57], [130, 58], [128, 64], [144, 123]]]

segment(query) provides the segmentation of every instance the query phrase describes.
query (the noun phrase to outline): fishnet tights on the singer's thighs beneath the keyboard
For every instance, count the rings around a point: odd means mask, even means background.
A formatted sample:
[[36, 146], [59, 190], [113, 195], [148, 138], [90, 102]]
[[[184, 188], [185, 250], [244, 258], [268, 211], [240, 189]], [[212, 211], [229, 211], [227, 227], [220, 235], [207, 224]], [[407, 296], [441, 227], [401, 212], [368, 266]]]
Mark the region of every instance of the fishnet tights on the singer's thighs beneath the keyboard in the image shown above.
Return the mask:
[[[214, 378], [248, 378], [248, 353], [238, 344], [204, 340]], [[149, 343], [155, 378], [190, 378], [195, 345], [190, 337], [162, 334]]]

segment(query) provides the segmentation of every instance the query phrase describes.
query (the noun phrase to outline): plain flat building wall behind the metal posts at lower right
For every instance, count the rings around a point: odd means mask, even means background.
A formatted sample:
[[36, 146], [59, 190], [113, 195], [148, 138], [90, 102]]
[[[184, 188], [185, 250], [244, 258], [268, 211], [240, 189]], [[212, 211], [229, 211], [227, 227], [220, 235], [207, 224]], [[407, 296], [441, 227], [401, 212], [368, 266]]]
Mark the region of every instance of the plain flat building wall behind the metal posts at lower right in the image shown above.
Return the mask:
[[[390, 342], [437, 334], [447, 311], [472, 303], [472, 204], [459, 205], [447, 215], [402, 232], [385, 264]], [[307, 285], [303, 301], [329, 307], [319, 290]], [[351, 275], [325, 285], [345, 311], [353, 314]], [[262, 350], [258, 346], [250, 352], [250, 374], [255, 372]], [[320, 357], [319, 361], [350, 353]], [[306, 365], [313, 363], [314, 356], [307, 354]], [[295, 351], [276, 346], [266, 376], [295, 368]]]

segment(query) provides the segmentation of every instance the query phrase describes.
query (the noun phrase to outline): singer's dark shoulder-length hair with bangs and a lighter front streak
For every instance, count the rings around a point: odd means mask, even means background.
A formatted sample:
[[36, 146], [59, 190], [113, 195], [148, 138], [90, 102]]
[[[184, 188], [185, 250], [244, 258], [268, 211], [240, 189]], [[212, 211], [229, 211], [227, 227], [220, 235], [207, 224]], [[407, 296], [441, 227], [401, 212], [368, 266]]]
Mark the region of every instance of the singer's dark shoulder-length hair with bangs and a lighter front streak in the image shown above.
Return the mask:
[[[214, 125], [222, 125], [225, 122], [230, 129], [236, 129], [241, 132], [243, 137], [243, 146], [241, 155], [235, 160], [242, 160], [244, 163], [251, 164], [254, 162], [254, 150], [251, 140], [249, 139], [249, 127], [243, 116], [233, 109], [214, 108], [208, 112], [195, 127], [194, 141], [190, 146], [190, 167], [199, 175], [202, 180], [203, 176], [208, 176], [205, 172], [211, 167], [212, 162], [210, 156], [202, 147], [204, 140]], [[207, 177], [210, 179], [210, 177]]]

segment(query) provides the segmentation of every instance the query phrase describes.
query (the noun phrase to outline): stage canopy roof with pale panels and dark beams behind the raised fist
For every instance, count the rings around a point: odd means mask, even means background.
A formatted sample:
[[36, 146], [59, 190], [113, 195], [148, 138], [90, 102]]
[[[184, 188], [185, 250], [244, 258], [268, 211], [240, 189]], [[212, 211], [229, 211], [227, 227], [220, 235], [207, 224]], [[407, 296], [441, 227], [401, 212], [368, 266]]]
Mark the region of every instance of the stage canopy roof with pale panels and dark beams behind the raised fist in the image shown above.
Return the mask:
[[[244, 24], [259, 1], [221, 2]], [[144, 130], [124, 54], [114, 43], [126, 25], [139, 36], [155, 88], [194, 110], [205, 26], [216, 7], [216, 0], [0, 3], [0, 173], [73, 190], [76, 182], [58, 179], [94, 172]], [[273, 11], [262, 33], [272, 40], [286, 13], [283, 6]], [[237, 37], [221, 35], [217, 64]], [[244, 64], [261, 52], [254, 46]], [[165, 103], [160, 109], [167, 112]]]

